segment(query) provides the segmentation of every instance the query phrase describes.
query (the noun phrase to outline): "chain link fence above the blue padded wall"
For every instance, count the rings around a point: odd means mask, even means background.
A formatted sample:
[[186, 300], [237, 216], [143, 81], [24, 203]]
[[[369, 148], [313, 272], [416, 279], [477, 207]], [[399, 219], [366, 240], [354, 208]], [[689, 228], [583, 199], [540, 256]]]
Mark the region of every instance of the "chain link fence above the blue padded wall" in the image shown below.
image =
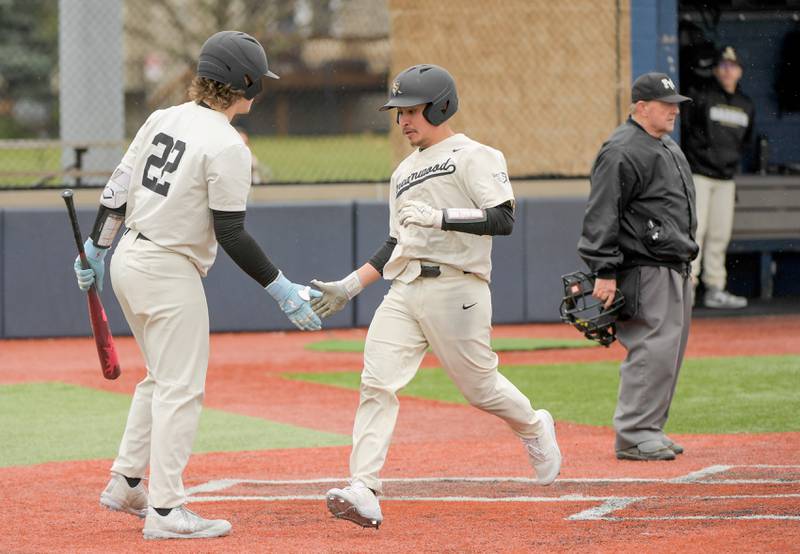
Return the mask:
[[[456, 131], [514, 177], [588, 173], [625, 115], [627, 0], [0, 0], [0, 187], [99, 185], [145, 118], [186, 101], [205, 39], [245, 31], [271, 81], [234, 121], [254, 182], [388, 180], [379, 112], [414, 63], [454, 74]], [[627, 73], [626, 73], [627, 71]]]

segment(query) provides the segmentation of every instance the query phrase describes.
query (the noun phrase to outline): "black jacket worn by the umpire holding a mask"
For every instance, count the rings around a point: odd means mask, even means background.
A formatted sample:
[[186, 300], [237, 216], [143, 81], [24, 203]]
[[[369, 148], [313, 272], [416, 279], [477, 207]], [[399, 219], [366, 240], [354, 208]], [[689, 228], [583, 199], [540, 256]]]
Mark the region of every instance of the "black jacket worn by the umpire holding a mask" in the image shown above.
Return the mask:
[[669, 135], [657, 139], [628, 118], [592, 167], [581, 258], [604, 279], [637, 265], [685, 272], [697, 256], [696, 228], [694, 183], [683, 152]]

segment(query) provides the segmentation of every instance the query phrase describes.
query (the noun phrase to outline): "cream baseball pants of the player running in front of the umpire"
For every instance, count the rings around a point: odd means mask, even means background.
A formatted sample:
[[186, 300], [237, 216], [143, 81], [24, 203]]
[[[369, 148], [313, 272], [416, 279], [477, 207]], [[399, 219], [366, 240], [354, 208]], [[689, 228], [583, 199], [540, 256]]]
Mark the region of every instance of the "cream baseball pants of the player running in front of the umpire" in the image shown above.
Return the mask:
[[353, 426], [352, 479], [380, 492], [378, 479], [397, 421], [397, 391], [416, 375], [430, 345], [467, 399], [506, 421], [520, 437], [541, 424], [528, 398], [497, 371], [489, 342], [489, 285], [471, 274], [440, 266], [436, 278], [395, 279], [367, 333], [361, 397]]

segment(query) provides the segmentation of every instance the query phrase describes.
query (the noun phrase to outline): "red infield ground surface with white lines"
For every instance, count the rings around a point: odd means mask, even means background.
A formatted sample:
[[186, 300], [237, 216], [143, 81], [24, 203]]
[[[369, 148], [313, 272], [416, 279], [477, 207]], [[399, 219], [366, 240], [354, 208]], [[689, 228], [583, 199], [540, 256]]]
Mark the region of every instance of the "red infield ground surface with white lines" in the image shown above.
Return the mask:
[[[693, 325], [690, 357], [800, 353], [800, 317]], [[349, 434], [355, 391], [280, 373], [357, 371], [360, 354], [302, 346], [364, 333], [215, 335], [205, 405]], [[509, 326], [495, 336], [573, 338], [574, 331]], [[131, 339], [118, 342], [117, 381], [100, 377], [90, 340], [0, 342], [0, 384], [63, 381], [130, 394], [142, 361]], [[530, 364], [622, 354], [615, 346], [500, 358]], [[437, 361], [429, 356], [425, 365]], [[108, 460], [0, 468], [0, 551], [800, 551], [800, 433], [673, 436], [686, 453], [662, 463], [616, 460], [609, 428], [559, 422], [558, 436], [561, 478], [537, 487], [502, 422], [468, 406], [404, 398], [383, 473], [385, 521], [378, 531], [334, 520], [325, 509], [324, 492], [346, 475], [349, 447], [194, 455], [185, 474], [193, 507], [230, 519], [233, 533], [189, 544], [145, 542], [140, 520], [98, 506]]]

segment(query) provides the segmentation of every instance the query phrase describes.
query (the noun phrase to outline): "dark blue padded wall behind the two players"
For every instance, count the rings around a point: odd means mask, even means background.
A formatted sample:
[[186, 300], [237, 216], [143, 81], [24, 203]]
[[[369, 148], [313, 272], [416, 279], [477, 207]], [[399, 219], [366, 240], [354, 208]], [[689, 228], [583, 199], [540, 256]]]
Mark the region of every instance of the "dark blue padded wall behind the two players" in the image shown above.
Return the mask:
[[[492, 255], [495, 323], [558, 321], [560, 276], [579, 269], [575, 246], [583, 199], [523, 199], [514, 232], [496, 237]], [[388, 236], [385, 202], [325, 202], [255, 205], [248, 231], [273, 262], [296, 282], [339, 279], [366, 262]], [[86, 233], [95, 208], [80, 208]], [[0, 337], [63, 337], [91, 334], [86, 295], [72, 270], [75, 244], [63, 208], [0, 210]], [[113, 252], [111, 253], [113, 256]], [[110, 258], [107, 259], [107, 261]], [[111, 329], [130, 334], [106, 271], [101, 294]], [[211, 329], [294, 329], [272, 298], [221, 249], [204, 280]], [[388, 290], [372, 285], [327, 328], [369, 325]]]

